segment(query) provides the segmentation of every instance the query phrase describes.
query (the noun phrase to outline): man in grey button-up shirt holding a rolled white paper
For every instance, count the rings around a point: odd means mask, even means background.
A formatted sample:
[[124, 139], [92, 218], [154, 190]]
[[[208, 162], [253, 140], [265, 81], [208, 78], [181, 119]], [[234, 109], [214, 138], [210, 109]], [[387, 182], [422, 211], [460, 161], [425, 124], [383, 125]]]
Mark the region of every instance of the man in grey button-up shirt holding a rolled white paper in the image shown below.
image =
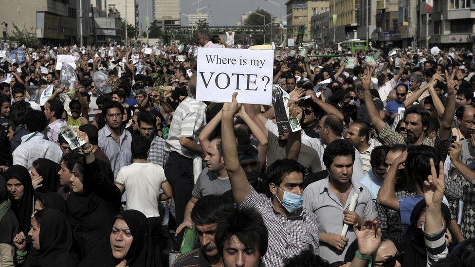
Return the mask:
[[[323, 154], [329, 176], [311, 183], [303, 193], [304, 208], [317, 215], [320, 256], [329, 262], [345, 259], [348, 246], [356, 240], [354, 225], [377, 217], [370, 192], [351, 178], [354, 160], [353, 145], [341, 139], [331, 142]], [[349, 211], [355, 194], [356, 207]], [[345, 224], [348, 231], [341, 235]]]

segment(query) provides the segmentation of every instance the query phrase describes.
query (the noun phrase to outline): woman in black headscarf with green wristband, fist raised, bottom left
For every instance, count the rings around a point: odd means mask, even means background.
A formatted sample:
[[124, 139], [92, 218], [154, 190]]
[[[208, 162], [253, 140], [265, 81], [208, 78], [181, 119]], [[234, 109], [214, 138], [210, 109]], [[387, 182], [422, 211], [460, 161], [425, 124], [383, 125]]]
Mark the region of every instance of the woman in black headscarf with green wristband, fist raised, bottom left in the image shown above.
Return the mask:
[[[31, 225], [28, 235], [32, 239], [34, 249], [27, 253], [24, 267], [76, 267], [78, 265], [77, 260], [70, 253], [73, 233], [63, 214], [54, 209], [40, 210], [32, 216]], [[25, 248], [21, 246], [24, 241], [16, 240], [15, 242], [19, 244], [18, 251]]]

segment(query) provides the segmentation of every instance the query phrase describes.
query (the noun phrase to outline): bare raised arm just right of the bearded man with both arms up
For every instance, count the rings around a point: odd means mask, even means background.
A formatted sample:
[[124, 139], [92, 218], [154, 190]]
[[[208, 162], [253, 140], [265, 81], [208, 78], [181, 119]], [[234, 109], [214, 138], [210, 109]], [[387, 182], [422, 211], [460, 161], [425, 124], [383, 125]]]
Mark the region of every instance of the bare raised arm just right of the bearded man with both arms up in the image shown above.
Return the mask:
[[[436, 76], [438, 74], [434, 74]], [[454, 81], [456, 71], [452, 72], [452, 75], [448, 75], [445, 71], [445, 78], [447, 79], [447, 103], [445, 105], [444, 115], [440, 123], [440, 129], [438, 130], [438, 136], [440, 140], [447, 140], [452, 135], [452, 122], [455, 115], [455, 97], [457, 95], [456, 89], [458, 88], [457, 81]]]

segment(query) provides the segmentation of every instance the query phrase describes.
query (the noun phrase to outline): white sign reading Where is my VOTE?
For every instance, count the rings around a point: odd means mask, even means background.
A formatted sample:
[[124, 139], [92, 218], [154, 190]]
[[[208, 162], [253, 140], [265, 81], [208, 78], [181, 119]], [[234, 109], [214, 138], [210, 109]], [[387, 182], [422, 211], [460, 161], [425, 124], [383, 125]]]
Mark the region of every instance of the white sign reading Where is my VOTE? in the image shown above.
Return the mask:
[[244, 104], [271, 104], [272, 50], [199, 48], [196, 99], [230, 102], [234, 92]]

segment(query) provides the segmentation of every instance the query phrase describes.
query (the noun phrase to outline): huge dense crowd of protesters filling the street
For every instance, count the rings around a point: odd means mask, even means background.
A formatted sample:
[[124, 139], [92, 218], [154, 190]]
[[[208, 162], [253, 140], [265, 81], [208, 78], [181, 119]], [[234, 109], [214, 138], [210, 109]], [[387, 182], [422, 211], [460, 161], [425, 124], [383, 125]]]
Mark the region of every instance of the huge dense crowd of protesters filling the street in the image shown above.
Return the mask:
[[6, 51], [0, 267], [475, 265], [472, 52], [276, 47], [284, 133], [197, 100], [195, 48], [234, 44], [196, 41]]

